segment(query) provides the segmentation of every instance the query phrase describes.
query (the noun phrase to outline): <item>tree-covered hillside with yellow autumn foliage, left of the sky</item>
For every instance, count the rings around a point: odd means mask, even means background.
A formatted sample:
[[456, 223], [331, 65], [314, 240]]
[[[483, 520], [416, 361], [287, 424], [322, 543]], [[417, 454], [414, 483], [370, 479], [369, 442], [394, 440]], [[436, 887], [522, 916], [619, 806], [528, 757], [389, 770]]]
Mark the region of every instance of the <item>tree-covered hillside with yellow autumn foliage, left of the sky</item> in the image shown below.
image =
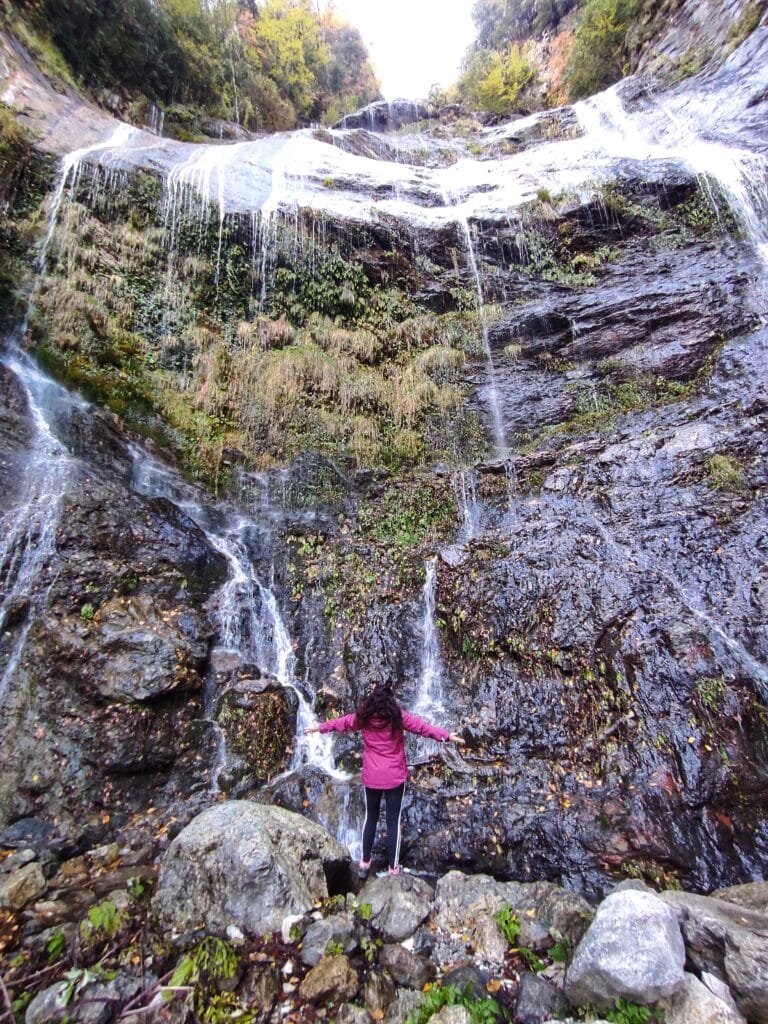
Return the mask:
[[356, 29], [309, 0], [3, 0], [0, 10], [59, 88], [80, 86], [136, 124], [162, 111], [178, 138], [333, 123], [379, 91]]

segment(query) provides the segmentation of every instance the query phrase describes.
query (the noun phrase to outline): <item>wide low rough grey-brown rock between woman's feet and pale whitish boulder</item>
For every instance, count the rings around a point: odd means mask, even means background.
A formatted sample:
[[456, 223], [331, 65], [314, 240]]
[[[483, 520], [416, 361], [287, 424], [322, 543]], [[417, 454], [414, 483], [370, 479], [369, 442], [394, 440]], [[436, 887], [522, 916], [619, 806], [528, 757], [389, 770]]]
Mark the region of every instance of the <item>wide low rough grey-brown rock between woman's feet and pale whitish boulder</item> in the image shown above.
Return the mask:
[[501, 963], [509, 943], [494, 915], [504, 906], [517, 915], [520, 944], [532, 948], [561, 938], [575, 945], [592, 912], [581, 896], [550, 882], [497, 882], [487, 874], [449, 871], [437, 883], [431, 923], [444, 932], [467, 934], [480, 956]]

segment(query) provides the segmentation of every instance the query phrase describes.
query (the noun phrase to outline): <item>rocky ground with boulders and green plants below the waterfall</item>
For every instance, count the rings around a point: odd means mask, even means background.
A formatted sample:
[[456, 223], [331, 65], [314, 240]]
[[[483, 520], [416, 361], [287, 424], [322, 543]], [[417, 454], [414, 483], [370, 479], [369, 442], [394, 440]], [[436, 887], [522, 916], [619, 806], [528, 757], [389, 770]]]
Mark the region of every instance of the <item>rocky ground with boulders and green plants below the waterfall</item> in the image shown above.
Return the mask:
[[4, 942], [25, 947], [5, 980], [27, 1024], [768, 1020], [760, 883], [624, 882], [591, 905], [459, 870], [366, 878], [303, 816], [242, 801], [196, 817], [159, 876], [114, 845], [72, 857], [33, 822], [2, 840]]

